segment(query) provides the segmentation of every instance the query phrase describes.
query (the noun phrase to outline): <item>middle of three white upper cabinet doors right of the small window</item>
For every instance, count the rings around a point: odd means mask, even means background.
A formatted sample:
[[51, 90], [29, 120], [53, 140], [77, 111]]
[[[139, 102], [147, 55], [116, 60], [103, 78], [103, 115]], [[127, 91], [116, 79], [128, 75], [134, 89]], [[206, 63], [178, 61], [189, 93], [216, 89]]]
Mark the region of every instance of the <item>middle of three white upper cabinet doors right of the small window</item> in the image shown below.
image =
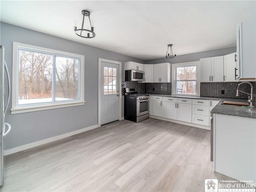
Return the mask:
[[223, 56], [212, 57], [212, 81], [224, 81], [224, 59]]

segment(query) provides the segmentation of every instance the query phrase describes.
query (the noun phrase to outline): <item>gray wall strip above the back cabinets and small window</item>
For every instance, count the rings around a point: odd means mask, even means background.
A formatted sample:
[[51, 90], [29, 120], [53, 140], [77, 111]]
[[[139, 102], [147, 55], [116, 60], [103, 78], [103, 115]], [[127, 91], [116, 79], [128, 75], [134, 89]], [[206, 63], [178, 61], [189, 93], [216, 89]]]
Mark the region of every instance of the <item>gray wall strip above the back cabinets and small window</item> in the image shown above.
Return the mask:
[[222, 56], [222, 55], [227, 55], [234, 52], [236, 52], [236, 47], [229, 47], [229, 48], [191, 53], [191, 54], [180, 55], [180, 56], [178, 55], [176, 56], [176, 58], [173, 58], [173, 59], [159, 58], [159, 59], [148, 60], [146, 61], [146, 64], [156, 64], [156, 63], [166, 63], [166, 62], [174, 64], [174, 63], [192, 62], [192, 61], [199, 61], [200, 58]]

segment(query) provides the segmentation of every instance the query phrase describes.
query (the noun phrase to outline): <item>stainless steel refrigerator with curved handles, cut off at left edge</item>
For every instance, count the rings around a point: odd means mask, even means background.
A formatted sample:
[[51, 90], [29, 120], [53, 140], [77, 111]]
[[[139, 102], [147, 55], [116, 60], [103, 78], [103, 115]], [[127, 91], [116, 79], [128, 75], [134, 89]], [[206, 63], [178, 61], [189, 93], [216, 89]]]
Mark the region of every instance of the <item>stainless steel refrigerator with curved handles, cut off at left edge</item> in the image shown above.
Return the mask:
[[[10, 76], [4, 60], [4, 46], [0, 46], [0, 186], [4, 184], [4, 137], [10, 132], [10, 124], [4, 121], [4, 116], [10, 101]], [[5, 76], [6, 75], [6, 76]], [[7, 80], [5, 83], [4, 81]], [[6, 86], [7, 84], [7, 86]], [[7, 89], [7, 90], [6, 90]]]

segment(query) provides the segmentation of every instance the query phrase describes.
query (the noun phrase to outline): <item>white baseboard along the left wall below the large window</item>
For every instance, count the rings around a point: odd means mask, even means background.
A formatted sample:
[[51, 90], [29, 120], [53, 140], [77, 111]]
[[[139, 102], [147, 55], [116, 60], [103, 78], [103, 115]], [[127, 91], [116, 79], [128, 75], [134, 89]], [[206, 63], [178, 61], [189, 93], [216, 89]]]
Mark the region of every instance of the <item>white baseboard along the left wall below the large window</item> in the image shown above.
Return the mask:
[[56, 140], [60, 140], [60, 139], [63, 139], [63, 138], [66, 138], [66, 137], [69, 137], [69, 136], [72, 136], [72, 135], [75, 135], [75, 134], [78, 134], [78, 133], [82, 133], [82, 132], [85, 132], [85, 131], [88, 131], [88, 130], [92, 130], [92, 129], [95, 129], [95, 128], [98, 128], [98, 127], [99, 127], [99, 125], [97, 124], [97, 125], [82, 128], [82, 129], [79, 129], [79, 130], [76, 130], [76, 131], [68, 132], [68, 133], [65, 133], [65, 134], [62, 134], [62, 135], [58, 135], [58, 136], [54, 136], [54, 137], [47, 138], [47, 139], [44, 139], [44, 140], [29, 143], [29, 144], [26, 144], [26, 145], [18, 146], [18, 147], [12, 148], [12, 149], [4, 150], [4, 155], [10, 155], [10, 154], [13, 154], [13, 153], [16, 153], [16, 152], [20, 152], [20, 151], [23, 151], [23, 150], [26, 150], [26, 149], [30, 149], [30, 148], [33, 148], [33, 147], [36, 147], [36, 146], [40, 146], [40, 145], [43, 145], [43, 144], [46, 144], [46, 143], [50, 143], [50, 142], [53, 142], [53, 141], [56, 141]]

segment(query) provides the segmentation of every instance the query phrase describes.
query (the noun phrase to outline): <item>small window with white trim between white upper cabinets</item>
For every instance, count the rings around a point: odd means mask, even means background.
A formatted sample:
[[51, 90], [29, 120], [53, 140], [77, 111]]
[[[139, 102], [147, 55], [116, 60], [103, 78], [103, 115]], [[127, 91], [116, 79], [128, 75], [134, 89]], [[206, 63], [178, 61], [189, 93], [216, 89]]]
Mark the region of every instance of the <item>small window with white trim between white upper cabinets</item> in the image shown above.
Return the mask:
[[172, 65], [172, 94], [200, 96], [199, 62]]

